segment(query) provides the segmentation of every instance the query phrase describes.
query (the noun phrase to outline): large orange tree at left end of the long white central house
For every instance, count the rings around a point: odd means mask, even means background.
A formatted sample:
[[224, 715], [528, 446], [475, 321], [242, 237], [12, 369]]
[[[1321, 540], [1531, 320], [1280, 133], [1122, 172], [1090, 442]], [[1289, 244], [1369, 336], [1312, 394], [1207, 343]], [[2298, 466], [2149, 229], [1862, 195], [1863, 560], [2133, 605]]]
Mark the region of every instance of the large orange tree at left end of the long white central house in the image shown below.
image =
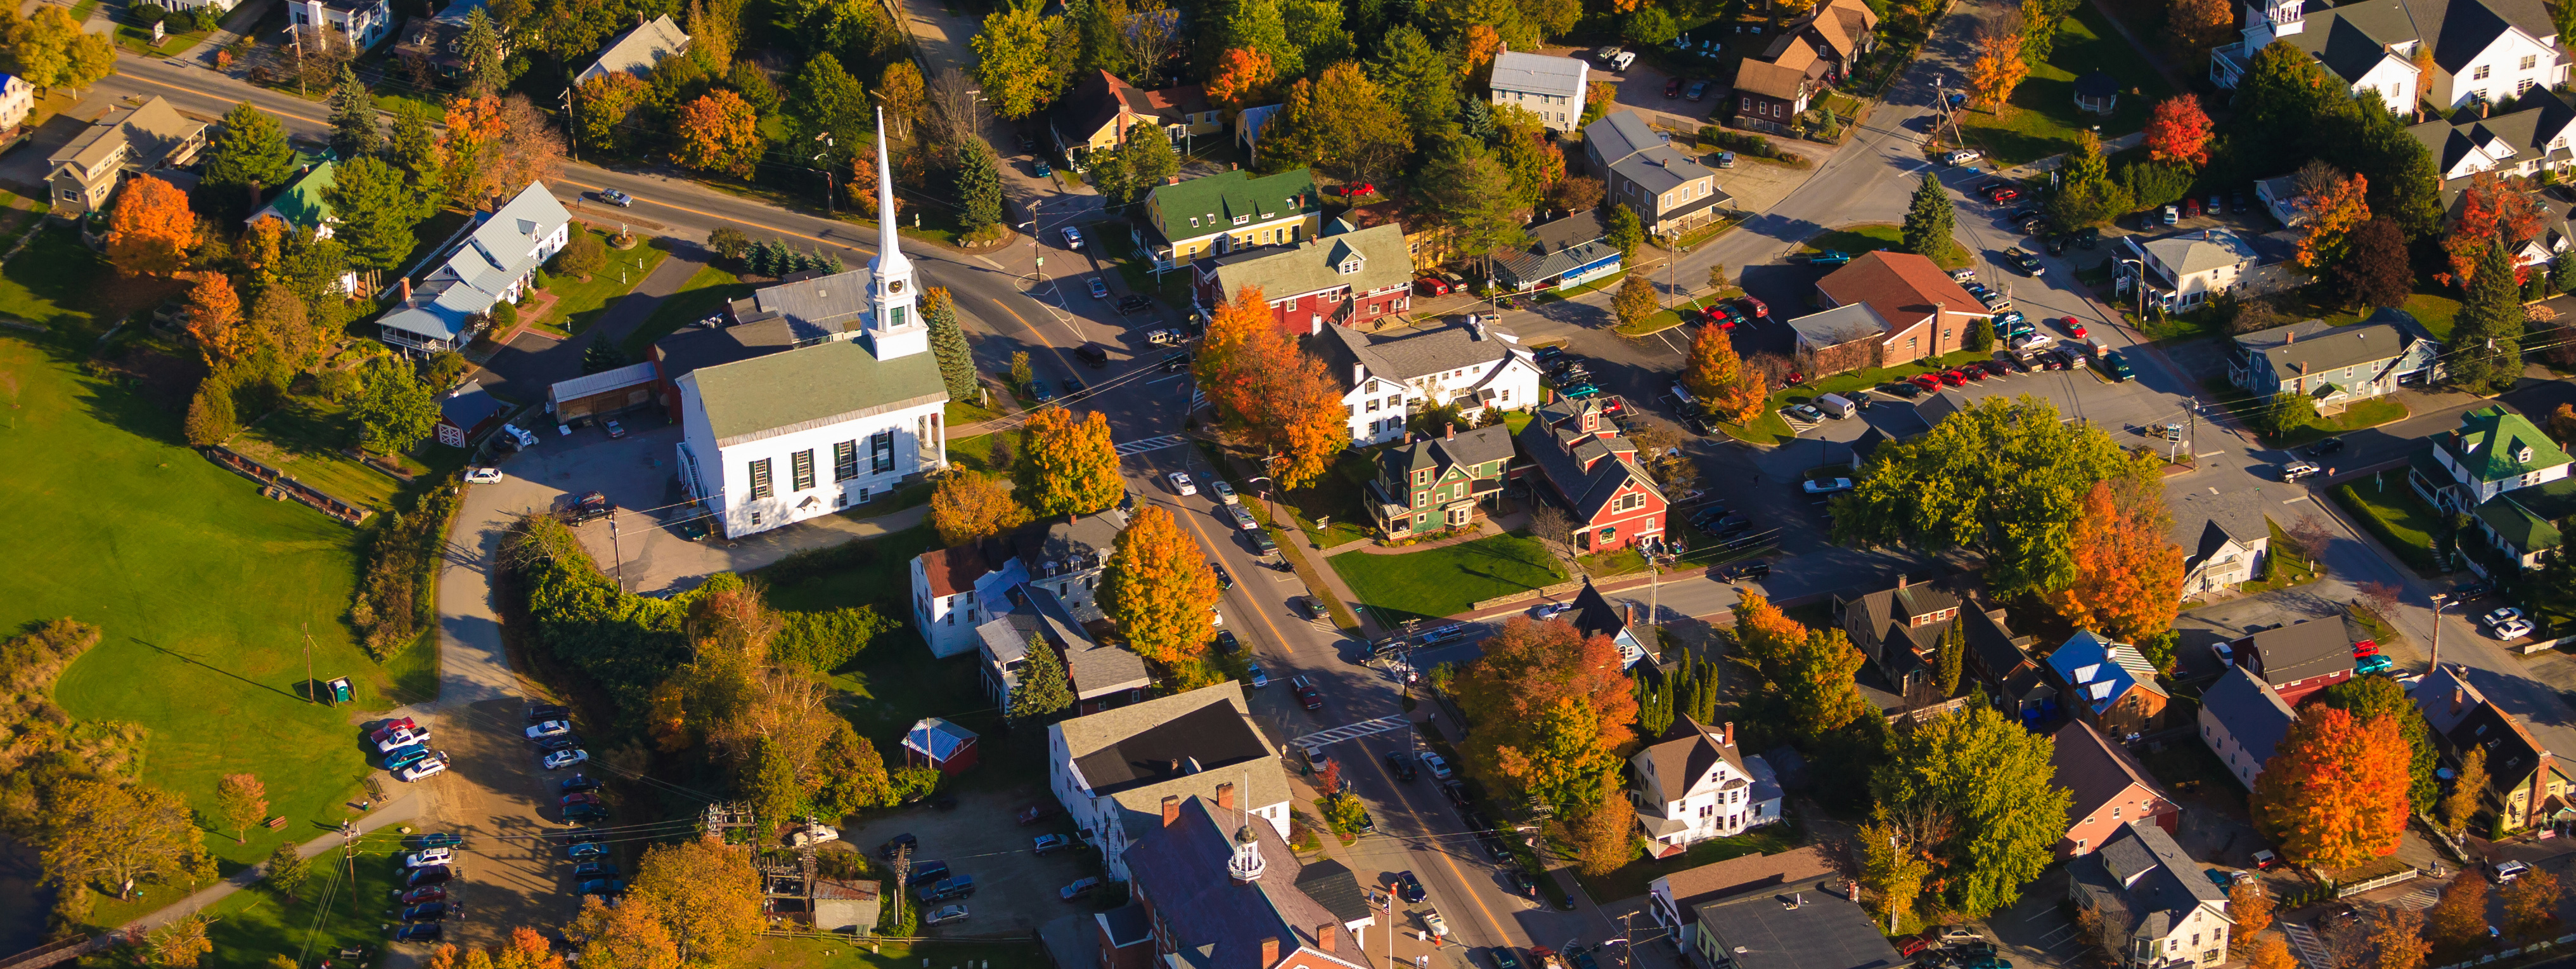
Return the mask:
[[1306, 487], [1350, 446], [1350, 412], [1324, 361], [1288, 338], [1257, 286], [1216, 307], [1195, 371], [1218, 417], [1267, 456], [1280, 490]]

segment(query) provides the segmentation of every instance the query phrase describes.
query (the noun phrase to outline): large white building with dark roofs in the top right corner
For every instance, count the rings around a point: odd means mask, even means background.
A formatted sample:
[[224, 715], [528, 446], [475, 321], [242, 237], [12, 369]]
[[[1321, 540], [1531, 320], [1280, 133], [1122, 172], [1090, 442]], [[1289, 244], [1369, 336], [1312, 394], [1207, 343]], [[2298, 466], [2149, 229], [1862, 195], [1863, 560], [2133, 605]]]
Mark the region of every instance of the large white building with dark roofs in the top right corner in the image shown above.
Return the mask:
[[[2365, 0], [2306, 10], [2306, 0], [2249, 0], [2244, 39], [2210, 52], [2210, 80], [2236, 88], [2254, 54], [2272, 41], [2316, 57], [2352, 88], [2378, 93], [2388, 111], [2429, 101], [2442, 111], [2496, 103], [2568, 80], [2558, 31], [2537, 3], [2509, 0]], [[2429, 64], [2416, 67], [2424, 52]]]

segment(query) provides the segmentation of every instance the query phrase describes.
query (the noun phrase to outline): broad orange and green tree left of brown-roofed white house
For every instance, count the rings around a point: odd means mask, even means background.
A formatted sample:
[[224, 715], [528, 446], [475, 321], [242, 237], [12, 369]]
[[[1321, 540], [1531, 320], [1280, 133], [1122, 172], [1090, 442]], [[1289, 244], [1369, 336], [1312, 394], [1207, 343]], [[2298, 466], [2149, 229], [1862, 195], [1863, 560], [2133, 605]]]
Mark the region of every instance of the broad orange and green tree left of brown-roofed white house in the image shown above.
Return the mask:
[[1564, 619], [1502, 624], [1484, 657], [1458, 673], [1455, 696], [1481, 724], [1461, 747], [1468, 773], [1569, 814], [1602, 804], [1602, 781], [1618, 776], [1618, 750], [1633, 740], [1636, 691], [1618, 644]]

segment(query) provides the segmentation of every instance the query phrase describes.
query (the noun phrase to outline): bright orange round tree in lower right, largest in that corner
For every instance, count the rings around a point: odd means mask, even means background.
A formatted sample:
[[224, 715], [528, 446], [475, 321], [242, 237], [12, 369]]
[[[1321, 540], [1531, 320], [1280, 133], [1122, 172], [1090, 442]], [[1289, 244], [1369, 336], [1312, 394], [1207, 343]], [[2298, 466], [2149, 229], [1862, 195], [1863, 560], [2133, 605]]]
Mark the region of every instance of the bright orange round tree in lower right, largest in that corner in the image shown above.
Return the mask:
[[2406, 830], [2409, 750], [2393, 716], [2308, 706], [2254, 778], [2254, 827], [2298, 866], [2385, 858]]

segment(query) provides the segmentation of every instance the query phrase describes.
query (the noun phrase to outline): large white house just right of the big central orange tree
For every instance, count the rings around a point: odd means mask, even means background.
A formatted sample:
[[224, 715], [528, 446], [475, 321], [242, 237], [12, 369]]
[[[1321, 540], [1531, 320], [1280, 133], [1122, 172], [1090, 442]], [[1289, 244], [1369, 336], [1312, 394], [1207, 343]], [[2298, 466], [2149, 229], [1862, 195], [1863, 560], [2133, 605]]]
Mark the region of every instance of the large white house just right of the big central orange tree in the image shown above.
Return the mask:
[[1489, 322], [1386, 335], [1324, 327], [1309, 348], [1342, 381], [1352, 446], [1401, 438], [1406, 417], [1425, 407], [1458, 407], [1468, 420], [1486, 407], [1538, 407], [1538, 361]]

